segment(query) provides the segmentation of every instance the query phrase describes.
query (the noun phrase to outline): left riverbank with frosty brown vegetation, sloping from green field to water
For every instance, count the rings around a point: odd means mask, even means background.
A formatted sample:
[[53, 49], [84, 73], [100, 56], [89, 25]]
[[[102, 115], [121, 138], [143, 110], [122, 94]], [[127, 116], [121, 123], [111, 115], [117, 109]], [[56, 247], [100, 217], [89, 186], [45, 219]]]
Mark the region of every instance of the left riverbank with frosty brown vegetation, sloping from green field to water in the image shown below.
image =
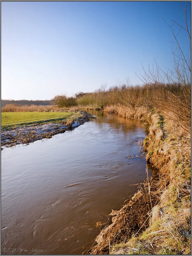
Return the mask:
[[17, 144], [27, 145], [37, 140], [51, 138], [55, 134], [64, 133], [93, 118], [91, 114], [85, 111], [66, 114], [66, 116], [60, 116], [55, 119], [51, 116], [51, 119], [47, 120], [27, 120], [25, 123], [22, 123], [22, 121], [20, 124], [11, 123], [11, 125], [3, 125], [1, 131], [1, 149]]

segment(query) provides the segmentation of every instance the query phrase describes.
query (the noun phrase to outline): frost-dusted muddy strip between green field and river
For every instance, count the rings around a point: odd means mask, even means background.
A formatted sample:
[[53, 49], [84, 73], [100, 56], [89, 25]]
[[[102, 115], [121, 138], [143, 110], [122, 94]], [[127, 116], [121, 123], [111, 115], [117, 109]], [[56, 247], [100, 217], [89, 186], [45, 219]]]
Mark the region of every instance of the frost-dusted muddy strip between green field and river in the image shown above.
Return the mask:
[[1, 150], [6, 147], [13, 147], [18, 144], [28, 145], [31, 142], [51, 138], [53, 135], [64, 133], [67, 130], [90, 121], [93, 116], [86, 111], [74, 120], [47, 122], [43, 124], [30, 124], [16, 126], [13, 129], [2, 130], [1, 132]]

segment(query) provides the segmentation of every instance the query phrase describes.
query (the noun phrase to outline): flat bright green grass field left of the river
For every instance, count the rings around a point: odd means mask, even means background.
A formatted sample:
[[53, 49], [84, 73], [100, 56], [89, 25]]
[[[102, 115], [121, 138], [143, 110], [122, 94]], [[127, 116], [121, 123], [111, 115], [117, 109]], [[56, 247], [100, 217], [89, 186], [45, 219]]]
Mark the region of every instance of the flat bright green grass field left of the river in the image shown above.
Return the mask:
[[69, 112], [2, 112], [1, 128], [8, 129], [18, 125], [65, 121], [72, 115], [76, 118], [77, 114]]

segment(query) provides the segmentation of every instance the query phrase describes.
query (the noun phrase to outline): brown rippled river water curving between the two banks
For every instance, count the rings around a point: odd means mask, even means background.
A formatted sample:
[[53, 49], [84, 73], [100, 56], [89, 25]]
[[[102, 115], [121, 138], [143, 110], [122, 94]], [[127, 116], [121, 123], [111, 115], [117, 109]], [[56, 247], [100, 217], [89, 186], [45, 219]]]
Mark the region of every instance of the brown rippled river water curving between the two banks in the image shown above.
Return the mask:
[[72, 131], [1, 152], [2, 254], [83, 253], [146, 179], [145, 159], [124, 158], [139, 155], [144, 127], [89, 112]]

